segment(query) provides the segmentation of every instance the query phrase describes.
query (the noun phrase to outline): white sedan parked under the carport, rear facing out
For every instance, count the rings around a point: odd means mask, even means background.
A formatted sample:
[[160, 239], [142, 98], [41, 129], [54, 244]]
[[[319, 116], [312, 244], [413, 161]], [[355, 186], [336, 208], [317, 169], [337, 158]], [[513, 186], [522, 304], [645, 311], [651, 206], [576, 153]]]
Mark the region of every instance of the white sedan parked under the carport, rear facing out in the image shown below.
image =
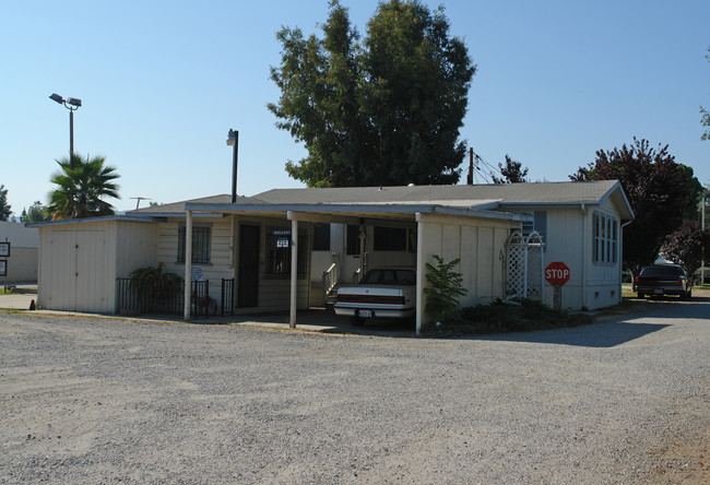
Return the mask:
[[356, 285], [338, 289], [335, 314], [362, 326], [367, 318], [411, 318], [416, 301], [416, 271], [410, 267], [377, 268]]

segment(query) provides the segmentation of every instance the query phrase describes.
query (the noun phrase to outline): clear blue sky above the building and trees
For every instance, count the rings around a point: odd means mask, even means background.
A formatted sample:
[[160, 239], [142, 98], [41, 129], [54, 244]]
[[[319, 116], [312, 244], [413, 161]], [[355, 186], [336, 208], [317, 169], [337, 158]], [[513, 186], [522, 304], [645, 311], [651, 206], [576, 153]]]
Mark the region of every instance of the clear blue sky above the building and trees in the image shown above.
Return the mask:
[[[360, 33], [377, 3], [343, 0]], [[698, 109], [710, 108], [710, 1], [443, 4], [478, 67], [461, 138], [486, 162], [510, 154], [533, 180], [567, 180], [636, 135], [670, 144], [708, 184]], [[82, 99], [74, 150], [118, 168], [118, 210], [138, 196], [229, 193], [229, 128], [240, 133], [239, 194], [300, 187], [284, 164], [305, 150], [267, 110], [279, 99], [269, 67], [282, 25], [320, 32], [327, 14], [327, 0], [0, 3], [0, 184], [13, 212], [46, 203], [69, 152], [69, 111], [51, 93]]]

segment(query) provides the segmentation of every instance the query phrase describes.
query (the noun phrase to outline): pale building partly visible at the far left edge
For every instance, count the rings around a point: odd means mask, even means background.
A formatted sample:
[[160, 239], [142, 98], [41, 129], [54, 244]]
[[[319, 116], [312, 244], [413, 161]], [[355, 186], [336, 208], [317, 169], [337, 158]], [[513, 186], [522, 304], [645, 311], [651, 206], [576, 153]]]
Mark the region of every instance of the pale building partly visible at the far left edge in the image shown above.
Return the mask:
[[38, 230], [22, 223], [1, 221], [0, 242], [10, 242], [10, 256], [0, 255], [4, 261], [9, 283], [34, 283], [37, 281]]

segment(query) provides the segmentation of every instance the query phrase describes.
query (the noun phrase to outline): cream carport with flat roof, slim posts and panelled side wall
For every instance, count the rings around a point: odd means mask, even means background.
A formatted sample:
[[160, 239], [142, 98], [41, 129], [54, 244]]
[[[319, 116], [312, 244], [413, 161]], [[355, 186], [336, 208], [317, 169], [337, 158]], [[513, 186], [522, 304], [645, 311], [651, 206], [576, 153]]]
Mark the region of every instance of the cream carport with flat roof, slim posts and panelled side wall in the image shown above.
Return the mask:
[[[416, 332], [426, 323], [425, 263], [438, 255], [445, 260], [461, 258], [460, 272], [470, 294], [464, 304], [505, 296], [504, 246], [511, 228], [520, 228], [530, 215], [487, 210], [495, 201], [446, 203], [186, 203], [186, 274], [192, 269], [192, 220], [200, 214], [237, 214], [291, 221], [289, 327], [297, 321], [297, 268], [299, 223], [367, 225], [377, 222], [416, 224]], [[363, 237], [363, 236], [360, 236]], [[496, 264], [500, 261], [500, 264]], [[360, 259], [363, 264], [363, 259]], [[190, 287], [185, 286], [185, 319], [190, 319]]]

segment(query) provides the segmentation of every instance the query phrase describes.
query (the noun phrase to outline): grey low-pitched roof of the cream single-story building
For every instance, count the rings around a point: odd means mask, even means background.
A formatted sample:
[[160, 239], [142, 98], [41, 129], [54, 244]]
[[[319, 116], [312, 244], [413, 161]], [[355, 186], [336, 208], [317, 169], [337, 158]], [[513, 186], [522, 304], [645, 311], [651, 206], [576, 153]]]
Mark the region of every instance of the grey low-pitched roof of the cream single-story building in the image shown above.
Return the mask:
[[[461, 186], [401, 186], [272, 189], [253, 197], [220, 194], [128, 211], [122, 220], [184, 217], [186, 209], [196, 215], [248, 212], [255, 215], [308, 212], [320, 214], [413, 216], [415, 212], [519, 220], [499, 211], [543, 208], [594, 206], [611, 199], [622, 220], [634, 218], [631, 206], [618, 180], [525, 182]], [[202, 213], [202, 214], [199, 214]], [[99, 218], [90, 218], [100, 220]], [[71, 222], [75, 223], [75, 220]], [[70, 223], [67, 221], [66, 223]]]

